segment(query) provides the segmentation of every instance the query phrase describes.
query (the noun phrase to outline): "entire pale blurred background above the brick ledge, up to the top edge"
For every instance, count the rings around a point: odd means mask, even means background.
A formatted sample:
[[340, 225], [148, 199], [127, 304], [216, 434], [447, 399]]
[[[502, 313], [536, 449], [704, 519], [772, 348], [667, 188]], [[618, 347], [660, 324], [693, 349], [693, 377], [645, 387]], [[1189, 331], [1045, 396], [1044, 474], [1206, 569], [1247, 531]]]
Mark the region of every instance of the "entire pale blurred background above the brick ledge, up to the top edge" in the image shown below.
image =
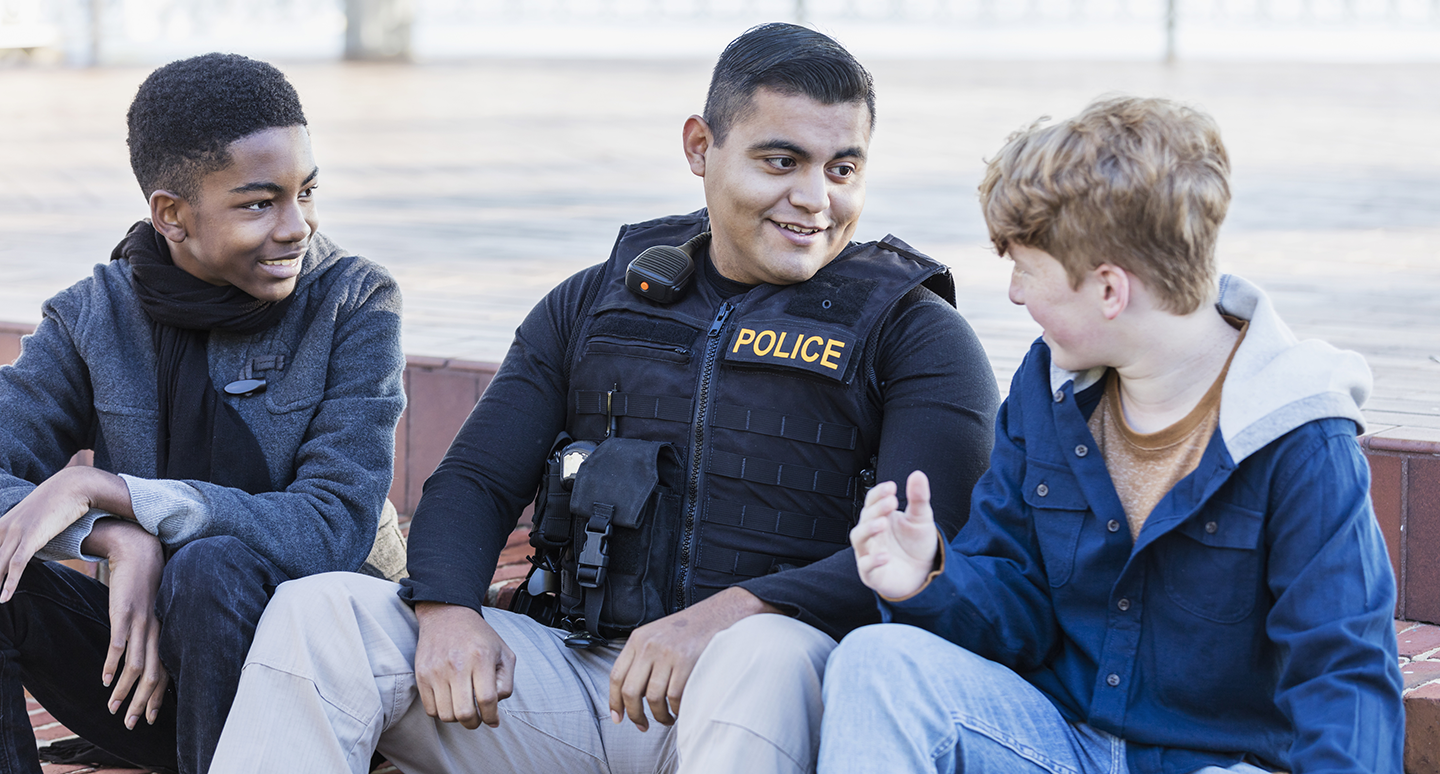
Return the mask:
[[1158, 95], [1224, 131], [1223, 269], [1369, 358], [1374, 422], [1440, 439], [1440, 0], [0, 0], [0, 321], [37, 321], [147, 214], [124, 124], [145, 73], [228, 50], [300, 91], [321, 229], [399, 278], [406, 351], [498, 361], [619, 224], [703, 206], [681, 124], [768, 20], [874, 72], [858, 236], [952, 266], [1002, 388], [1038, 329], [985, 242], [984, 158]]

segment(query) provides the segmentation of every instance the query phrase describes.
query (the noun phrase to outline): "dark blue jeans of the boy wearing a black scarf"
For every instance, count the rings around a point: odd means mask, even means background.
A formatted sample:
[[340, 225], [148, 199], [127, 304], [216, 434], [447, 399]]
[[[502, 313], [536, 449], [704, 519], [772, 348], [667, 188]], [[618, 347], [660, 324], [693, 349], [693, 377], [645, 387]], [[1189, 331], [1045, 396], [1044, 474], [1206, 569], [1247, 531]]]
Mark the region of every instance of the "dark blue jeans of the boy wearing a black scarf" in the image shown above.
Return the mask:
[[203, 774], [240, 682], [245, 652], [275, 587], [289, 580], [236, 538], [190, 542], [166, 564], [156, 598], [170, 688], [156, 725], [111, 715], [101, 685], [109, 591], [53, 563], [30, 563], [0, 604], [0, 774], [40, 774], [22, 685], [58, 721], [143, 767]]

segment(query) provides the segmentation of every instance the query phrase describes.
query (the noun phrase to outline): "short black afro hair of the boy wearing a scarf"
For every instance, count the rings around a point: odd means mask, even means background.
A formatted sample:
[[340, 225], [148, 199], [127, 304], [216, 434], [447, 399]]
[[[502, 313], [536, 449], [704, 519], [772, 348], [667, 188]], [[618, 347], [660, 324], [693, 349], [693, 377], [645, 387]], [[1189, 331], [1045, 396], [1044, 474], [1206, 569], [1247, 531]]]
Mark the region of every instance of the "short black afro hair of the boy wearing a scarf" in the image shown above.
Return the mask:
[[183, 199], [230, 164], [230, 142], [276, 127], [305, 125], [300, 95], [271, 65], [235, 53], [171, 62], [145, 78], [130, 104], [130, 167], [148, 199]]

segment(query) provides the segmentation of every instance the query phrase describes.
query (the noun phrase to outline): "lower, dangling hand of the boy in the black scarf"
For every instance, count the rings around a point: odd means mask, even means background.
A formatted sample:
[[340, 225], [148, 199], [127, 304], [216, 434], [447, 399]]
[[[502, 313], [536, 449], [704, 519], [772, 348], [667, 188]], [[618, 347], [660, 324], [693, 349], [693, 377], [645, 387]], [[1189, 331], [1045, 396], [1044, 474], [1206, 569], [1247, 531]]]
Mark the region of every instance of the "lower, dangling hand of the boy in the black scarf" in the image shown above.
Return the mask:
[[[138, 524], [99, 519], [85, 539], [85, 550], [109, 560], [109, 650], [101, 682], [114, 683], [109, 712], [125, 709], [125, 728], [135, 728], [140, 718], [154, 725], [166, 696], [170, 676], [160, 663], [160, 620], [156, 619], [156, 594], [164, 571], [164, 552], [157, 539]], [[120, 659], [125, 668], [120, 669]], [[120, 679], [115, 672], [120, 669]]]

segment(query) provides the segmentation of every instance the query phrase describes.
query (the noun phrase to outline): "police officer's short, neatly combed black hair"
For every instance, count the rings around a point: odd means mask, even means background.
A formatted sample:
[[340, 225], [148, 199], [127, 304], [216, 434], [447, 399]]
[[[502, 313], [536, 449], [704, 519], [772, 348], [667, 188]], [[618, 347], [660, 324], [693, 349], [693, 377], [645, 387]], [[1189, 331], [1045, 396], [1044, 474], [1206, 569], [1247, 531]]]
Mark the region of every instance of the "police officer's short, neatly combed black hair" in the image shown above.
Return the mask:
[[706, 124], [723, 144], [730, 127], [744, 121], [757, 89], [804, 95], [824, 105], [864, 102], [876, 128], [876, 83], [834, 39], [798, 24], [773, 22], [750, 27], [726, 46], [710, 76]]

